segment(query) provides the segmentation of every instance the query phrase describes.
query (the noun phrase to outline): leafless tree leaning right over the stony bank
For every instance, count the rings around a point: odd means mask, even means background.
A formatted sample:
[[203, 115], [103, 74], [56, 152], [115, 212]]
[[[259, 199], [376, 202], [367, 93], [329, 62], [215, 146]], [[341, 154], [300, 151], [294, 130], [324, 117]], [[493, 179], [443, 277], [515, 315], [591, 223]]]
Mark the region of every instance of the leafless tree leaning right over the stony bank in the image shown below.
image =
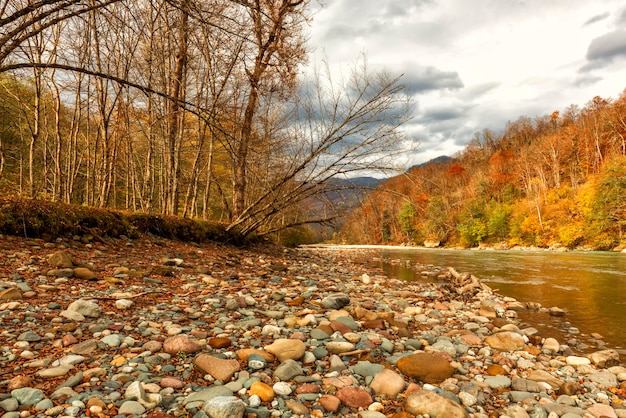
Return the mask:
[[278, 223], [276, 218], [311, 199], [351, 187], [332, 179], [397, 168], [394, 161], [407, 150], [401, 127], [409, 120], [410, 100], [399, 77], [370, 73], [365, 61], [361, 64], [339, 86], [326, 68], [289, 103], [288, 123], [275, 135], [286, 139], [271, 148], [273, 174], [259, 173], [265, 176], [264, 187], [229, 229], [267, 233], [329, 221], [337, 213]]

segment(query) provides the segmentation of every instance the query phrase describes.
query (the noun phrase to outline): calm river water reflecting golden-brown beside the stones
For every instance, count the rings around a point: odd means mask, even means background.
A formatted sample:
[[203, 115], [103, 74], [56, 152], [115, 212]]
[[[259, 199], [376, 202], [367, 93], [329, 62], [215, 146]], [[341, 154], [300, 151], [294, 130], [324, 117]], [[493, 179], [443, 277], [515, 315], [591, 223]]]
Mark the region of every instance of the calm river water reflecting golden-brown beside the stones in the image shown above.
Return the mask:
[[[524, 312], [519, 319], [561, 343], [576, 339], [582, 352], [605, 346], [626, 353], [626, 254], [383, 249], [382, 257], [386, 273], [400, 279], [425, 280], [424, 265], [454, 267], [501, 295], [565, 309], [564, 317]], [[599, 344], [592, 333], [602, 336]]]

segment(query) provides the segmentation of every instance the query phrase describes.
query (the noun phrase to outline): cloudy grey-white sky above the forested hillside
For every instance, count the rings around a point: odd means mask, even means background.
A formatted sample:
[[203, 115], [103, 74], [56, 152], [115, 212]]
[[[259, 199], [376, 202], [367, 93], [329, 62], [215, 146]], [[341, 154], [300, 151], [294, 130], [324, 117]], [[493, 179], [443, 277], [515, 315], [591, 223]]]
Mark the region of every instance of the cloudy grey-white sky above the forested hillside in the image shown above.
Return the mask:
[[[316, 2], [317, 0], [313, 0]], [[415, 101], [408, 165], [462, 150], [475, 132], [626, 88], [624, 0], [323, 0], [314, 56], [404, 74]]]

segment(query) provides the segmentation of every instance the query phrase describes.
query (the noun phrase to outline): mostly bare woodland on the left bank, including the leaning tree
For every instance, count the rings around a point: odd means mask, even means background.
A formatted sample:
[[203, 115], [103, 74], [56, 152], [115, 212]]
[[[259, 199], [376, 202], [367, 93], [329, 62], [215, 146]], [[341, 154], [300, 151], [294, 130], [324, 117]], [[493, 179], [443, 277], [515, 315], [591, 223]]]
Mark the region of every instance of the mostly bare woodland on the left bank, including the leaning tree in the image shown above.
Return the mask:
[[0, 0], [0, 194], [243, 235], [332, 222], [330, 180], [391, 167], [410, 101], [365, 57], [309, 65], [311, 20], [308, 0]]

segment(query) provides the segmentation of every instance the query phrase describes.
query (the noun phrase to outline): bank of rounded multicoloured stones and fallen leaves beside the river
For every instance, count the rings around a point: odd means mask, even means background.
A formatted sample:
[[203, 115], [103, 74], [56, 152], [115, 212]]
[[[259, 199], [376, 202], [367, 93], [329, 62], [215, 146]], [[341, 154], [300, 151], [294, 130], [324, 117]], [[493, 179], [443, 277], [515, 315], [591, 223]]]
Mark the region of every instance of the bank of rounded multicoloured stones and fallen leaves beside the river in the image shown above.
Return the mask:
[[355, 261], [374, 254], [3, 236], [1, 416], [626, 417], [616, 351], [543, 338], [471, 274]]

